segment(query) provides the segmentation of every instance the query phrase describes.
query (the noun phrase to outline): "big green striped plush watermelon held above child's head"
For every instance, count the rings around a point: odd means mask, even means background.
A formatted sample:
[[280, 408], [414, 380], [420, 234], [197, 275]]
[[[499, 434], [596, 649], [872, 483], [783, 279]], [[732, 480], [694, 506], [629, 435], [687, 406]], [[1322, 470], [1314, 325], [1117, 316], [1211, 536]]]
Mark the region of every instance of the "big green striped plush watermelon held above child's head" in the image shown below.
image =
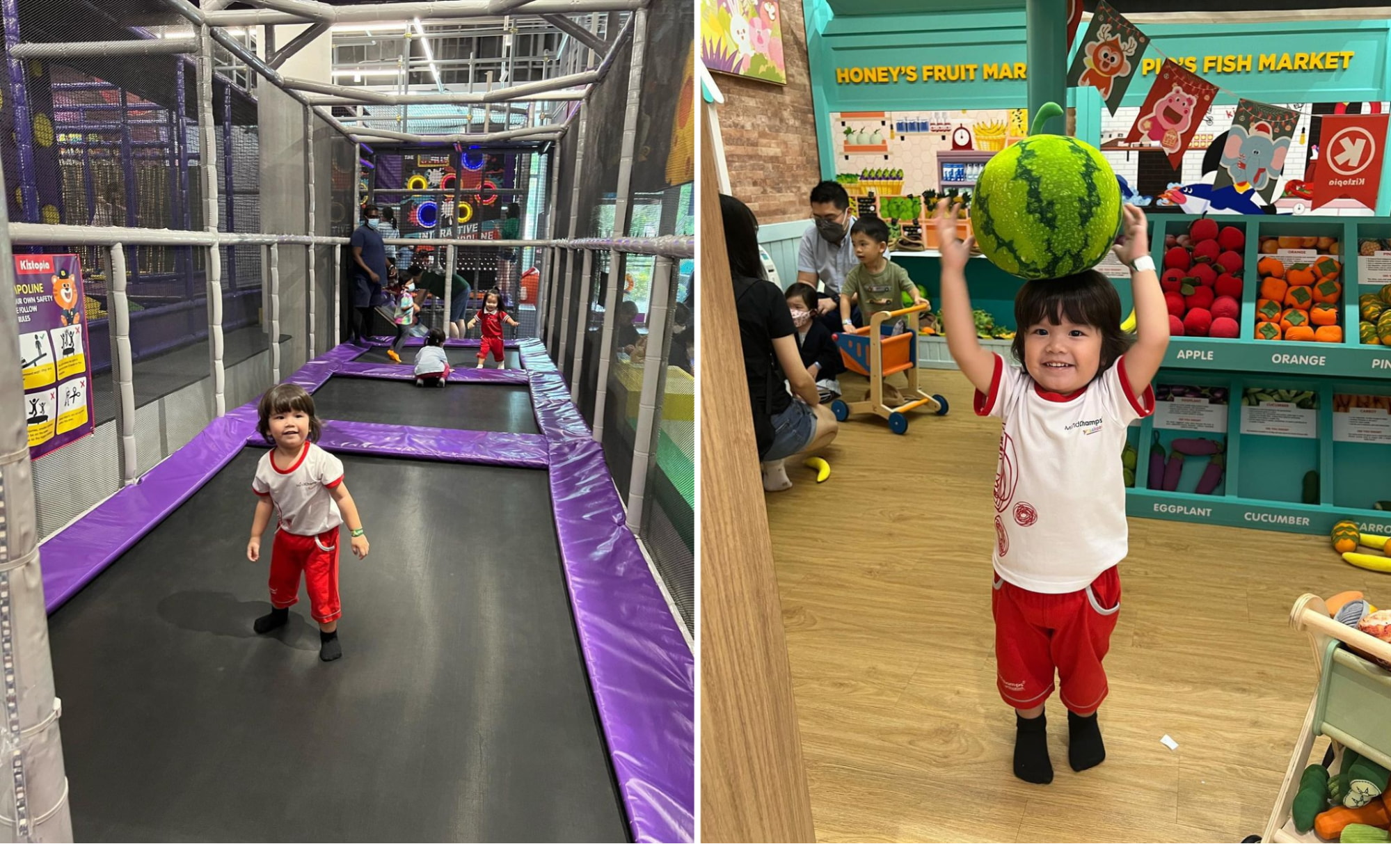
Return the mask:
[[[1035, 129], [1063, 114], [1045, 103]], [[1027, 279], [1091, 270], [1116, 242], [1121, 189], [1096, 147], [1063, 135], [1029, 135], [996, 153], [975, 184], [971, 229], [996, 267]]]

